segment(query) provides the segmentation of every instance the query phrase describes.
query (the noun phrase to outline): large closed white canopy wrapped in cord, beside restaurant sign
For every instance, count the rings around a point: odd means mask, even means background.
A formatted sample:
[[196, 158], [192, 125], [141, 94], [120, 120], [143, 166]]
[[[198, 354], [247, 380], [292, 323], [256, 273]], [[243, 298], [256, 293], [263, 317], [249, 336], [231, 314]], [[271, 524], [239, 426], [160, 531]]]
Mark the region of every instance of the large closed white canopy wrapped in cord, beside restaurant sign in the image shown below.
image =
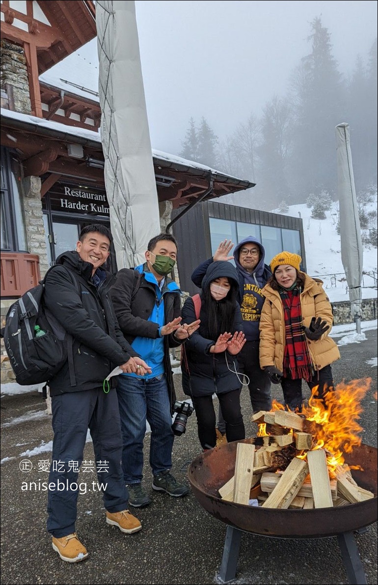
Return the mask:
[[135, 2], [96, 2], [101, 141], [118, 269], [144, 261], [160, 232]]

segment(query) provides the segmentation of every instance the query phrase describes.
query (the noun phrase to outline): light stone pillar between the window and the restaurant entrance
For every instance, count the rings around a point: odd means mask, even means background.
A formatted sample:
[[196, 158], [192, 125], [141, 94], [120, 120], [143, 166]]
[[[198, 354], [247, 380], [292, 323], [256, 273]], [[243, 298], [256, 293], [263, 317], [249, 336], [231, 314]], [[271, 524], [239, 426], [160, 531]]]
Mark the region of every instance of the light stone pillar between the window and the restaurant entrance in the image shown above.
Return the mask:
[[46, 239], [43, 223], [40, 177], [26, 177], [23, 180], [22, 199], [25, 217], [27, 248], [30, 254], [38, 254], [41, 278], [48, 270]]

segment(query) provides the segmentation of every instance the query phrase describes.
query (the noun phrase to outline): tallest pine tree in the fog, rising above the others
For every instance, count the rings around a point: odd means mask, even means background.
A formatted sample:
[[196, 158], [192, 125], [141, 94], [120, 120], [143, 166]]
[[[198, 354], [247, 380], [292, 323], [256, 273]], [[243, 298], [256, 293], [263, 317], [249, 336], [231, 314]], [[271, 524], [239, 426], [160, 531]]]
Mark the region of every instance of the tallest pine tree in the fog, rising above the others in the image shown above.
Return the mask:
[[291, 87], [296, 124], [290, 176], [297, 202], [321, 187], [335, 190], [335, 126], [345, 121], [343, 82], [332, 56], [331, 35], [318, 17], [311, 31], [311, 53], [301, 60]]

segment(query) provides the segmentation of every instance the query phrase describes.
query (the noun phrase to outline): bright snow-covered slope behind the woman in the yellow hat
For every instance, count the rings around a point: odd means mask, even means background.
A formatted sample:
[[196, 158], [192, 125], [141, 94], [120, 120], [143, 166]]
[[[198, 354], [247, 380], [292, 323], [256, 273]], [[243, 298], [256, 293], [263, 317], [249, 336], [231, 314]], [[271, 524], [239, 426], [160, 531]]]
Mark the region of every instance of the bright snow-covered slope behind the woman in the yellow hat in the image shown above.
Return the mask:
[[[302, 218], [307, 273], [324, 282], [324, 288], [331, 302], [349, 301], [348, 286], [341, 260], [340, 236], [337, 233], [338, 205], [338, 201], [332, 202], [330, 211], [325, 212], [326, 219], [311, 218], [311, 209], [305, 203], [291, 205], [289, 211], [285, 213], [278, 209], [273, 210], [280, 215]], [[373, 201], [364, 207], [366, 214], [376, 212], [377, 194], [374, 195]], [[377, 249], [373, 246], [363, 249], [363, 271], [365, 274], [363, 274], [362, 298], [376, 298]]]

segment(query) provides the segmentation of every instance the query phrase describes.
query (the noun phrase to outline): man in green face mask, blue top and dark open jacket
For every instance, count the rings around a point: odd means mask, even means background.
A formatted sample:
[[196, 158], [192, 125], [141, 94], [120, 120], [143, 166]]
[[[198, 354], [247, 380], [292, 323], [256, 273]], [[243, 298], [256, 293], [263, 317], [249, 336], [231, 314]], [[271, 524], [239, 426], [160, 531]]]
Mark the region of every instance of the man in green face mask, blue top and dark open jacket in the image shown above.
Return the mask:
[[[122, 424], [124, 481], [129, 504], [143, 507], [150, 497], [141, 487], [145, 421], [151, 426], [150, 465], [152, 488], [182, 497], [188, 487], [179, 484], [172, 466], [172, 405], [175, 390], [169, 347], [178, 347], [199, 327], [199, 321], [181, 325], [181, 291], [168, 277], [176, 262], [173, 236], [161, 233], [148, 242], [144, 264], [123, 269], [110, 294], [123, 335], [152, 372], [119, 376], [117, 394]], [[143, 373], [143, 372], [142, 372]]]

